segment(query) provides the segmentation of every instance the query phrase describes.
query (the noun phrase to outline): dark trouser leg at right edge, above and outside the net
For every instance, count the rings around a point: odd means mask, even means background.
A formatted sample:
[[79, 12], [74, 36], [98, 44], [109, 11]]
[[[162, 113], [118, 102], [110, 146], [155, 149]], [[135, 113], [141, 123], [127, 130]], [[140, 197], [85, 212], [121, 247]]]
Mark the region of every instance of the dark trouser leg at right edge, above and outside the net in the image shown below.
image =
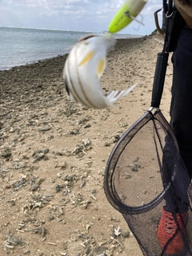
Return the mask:
[[174, 77], [170, 106], [170, 126], [186, 169], [192, 178], [192, 30], [184, 26], [174, 51]]

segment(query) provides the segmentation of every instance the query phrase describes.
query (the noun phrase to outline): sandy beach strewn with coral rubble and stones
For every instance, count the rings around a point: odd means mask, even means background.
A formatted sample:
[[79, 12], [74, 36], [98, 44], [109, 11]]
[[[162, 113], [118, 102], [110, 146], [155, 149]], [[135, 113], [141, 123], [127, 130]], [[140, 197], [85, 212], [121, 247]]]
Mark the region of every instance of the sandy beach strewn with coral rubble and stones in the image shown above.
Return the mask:
[[[150, 107], [162, 41], [118, 39], [103, 91], [138, 86], [106, 110], [67, 99], [66, 56], [0, 71], [1, 255], [142, 256], [106, 200], [103, 175], [116, 138]], [[161, 104], [168, 120], [172, 74], [170, 64]]]

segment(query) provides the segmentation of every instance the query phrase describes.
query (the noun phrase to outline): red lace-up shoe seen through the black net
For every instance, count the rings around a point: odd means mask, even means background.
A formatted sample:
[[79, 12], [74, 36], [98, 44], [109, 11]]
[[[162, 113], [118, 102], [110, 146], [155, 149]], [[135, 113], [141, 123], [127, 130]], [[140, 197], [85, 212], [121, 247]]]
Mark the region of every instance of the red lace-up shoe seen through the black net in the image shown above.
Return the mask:
[[[162, 208], [162, 218], [158, 223], [158, 242], [162, 250], [166, 246], [166, 254], [180, 255], [182, 253], [184, 242], [181, 230], [184, 234], [186, 233], [187, 217], [188, 212], [176, 214], [178, 220], [176, 223], [173, 214]], [[178, 229], [178, 226], [181, 230]]]

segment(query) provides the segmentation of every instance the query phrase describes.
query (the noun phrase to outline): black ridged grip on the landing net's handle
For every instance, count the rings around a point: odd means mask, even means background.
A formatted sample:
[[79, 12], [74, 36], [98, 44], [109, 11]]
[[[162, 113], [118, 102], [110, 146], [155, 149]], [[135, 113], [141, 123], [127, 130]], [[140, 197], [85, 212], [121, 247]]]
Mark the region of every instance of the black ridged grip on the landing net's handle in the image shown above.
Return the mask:
[[166, 66], [169, 58], [169, 53], [158, 53], [155, 73], [154, 73], [154, 85], [152, 91], [152, 107], [159, 107], [162, 99], [162, 90], [166, 78]]

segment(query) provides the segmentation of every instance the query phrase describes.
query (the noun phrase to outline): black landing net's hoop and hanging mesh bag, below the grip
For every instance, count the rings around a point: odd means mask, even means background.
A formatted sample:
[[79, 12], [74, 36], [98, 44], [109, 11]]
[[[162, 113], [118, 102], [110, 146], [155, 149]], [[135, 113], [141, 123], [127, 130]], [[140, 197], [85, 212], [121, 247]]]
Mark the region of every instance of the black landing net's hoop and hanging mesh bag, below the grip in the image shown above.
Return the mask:
[[123, 134], [110, 154], [104, 188], [143, 255], [192, 255], [192, 186], [160, 110]]

